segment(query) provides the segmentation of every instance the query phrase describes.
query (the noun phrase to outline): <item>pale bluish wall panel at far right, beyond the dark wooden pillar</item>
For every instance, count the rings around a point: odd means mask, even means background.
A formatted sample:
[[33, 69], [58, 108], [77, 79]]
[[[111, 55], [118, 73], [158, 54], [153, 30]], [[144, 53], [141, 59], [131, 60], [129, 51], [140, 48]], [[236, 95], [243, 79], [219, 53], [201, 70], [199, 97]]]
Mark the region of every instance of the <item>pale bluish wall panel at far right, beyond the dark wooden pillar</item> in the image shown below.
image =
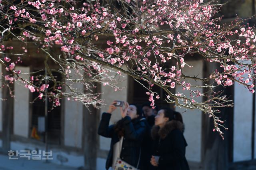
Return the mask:
[[251, 160], [252, 93], [234, 84], [234, 162]]

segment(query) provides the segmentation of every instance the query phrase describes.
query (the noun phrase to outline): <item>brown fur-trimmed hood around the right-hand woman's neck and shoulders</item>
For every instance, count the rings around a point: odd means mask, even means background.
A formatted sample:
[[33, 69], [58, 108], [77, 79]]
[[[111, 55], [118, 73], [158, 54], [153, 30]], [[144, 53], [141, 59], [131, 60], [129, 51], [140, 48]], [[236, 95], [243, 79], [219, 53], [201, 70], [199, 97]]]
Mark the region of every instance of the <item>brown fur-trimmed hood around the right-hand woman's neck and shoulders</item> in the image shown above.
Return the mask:
[[167, 122], [161, 129], [159, 126], [153, 126], [151, 130], [151, 135], [154, 140], [159, 136], [161, 139], [164, 139], [174, 129], [178, 129], [180, 130], [180, 132], [184, 132], [184, 124], [177, 120], [171, 120]]

